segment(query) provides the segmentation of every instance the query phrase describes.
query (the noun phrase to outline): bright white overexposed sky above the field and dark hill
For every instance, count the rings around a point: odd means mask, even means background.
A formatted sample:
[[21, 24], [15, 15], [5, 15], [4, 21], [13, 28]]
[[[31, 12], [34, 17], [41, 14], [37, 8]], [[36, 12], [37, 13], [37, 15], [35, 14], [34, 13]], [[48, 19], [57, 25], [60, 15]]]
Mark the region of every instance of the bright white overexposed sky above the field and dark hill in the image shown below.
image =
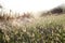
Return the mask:
[[13, 11], [44, 11], [55, 8], [65, 0], [0, 0], [0, 3], [4, 5], [5, 9], [11, 9]]

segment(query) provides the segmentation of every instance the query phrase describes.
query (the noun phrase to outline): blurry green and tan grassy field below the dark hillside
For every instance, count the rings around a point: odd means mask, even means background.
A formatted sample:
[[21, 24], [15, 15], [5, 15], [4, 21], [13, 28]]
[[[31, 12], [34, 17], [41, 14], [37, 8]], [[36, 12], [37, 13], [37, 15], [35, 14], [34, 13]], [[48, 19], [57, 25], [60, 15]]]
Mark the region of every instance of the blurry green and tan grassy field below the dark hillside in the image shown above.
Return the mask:
[[65, 14], [39, 17], [20, 27], [8, 22], [1, 26], [0, 43], [65, 43]]

